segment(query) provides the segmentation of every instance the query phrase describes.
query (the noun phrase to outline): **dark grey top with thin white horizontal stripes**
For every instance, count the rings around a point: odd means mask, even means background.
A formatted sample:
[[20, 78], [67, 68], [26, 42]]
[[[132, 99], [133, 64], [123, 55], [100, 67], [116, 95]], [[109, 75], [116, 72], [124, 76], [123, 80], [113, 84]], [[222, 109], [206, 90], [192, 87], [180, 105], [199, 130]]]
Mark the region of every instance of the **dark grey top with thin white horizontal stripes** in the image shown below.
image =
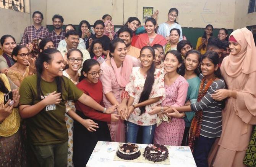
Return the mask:
[[[203, 74], [199, 75], [200, 80], [203, 79]], [[206, 86], [204, 83], [204, 87]], [[196, 103], [191, 104], [192, 111], [203, 110], [202, 126], [200, 135], [209, 138], [220, 137], [222, 132], [222, 102], [212, 99], [211, 94], [217, 89], [225, 89], [224, 80], [214, 81], [209, 87], [206, 95]]]

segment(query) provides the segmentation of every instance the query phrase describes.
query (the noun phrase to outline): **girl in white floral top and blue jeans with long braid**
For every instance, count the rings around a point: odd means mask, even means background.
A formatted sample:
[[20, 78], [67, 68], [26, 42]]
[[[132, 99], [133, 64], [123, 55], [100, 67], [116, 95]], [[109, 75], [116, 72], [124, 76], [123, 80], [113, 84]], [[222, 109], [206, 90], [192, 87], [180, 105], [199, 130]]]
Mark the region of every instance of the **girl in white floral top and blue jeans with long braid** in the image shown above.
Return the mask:
[[143, 126], [143, 144], [149, 144], [152, 143], [157, 116], [147, 112], [165, 98], [164, 73], [154, 67], [155, 51], [152, 47], [144, 46], [140, 54], [142, 67], [133, 67], [130, 83], [125, 88], [130, 95], [127, 142], [136, 143], [139, 126]]

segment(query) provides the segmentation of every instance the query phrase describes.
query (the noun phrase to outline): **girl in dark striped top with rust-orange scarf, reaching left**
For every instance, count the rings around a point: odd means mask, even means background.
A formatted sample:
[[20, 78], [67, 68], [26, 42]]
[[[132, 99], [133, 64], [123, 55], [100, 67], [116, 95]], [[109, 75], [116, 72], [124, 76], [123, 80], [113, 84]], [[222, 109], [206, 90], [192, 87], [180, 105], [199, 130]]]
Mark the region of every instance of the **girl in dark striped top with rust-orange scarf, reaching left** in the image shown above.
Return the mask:
[[[190, 127], [188, 145], [193, 153], [196, 166], [206, 167], [209, 151], [222, 132], [222, 109], [225, 105], [225, 101], [212, 99], [212, 95], [218, 89], [225, 89], [217, 52], [208, 51], [202, 56], [201, 71], [197, 102], [183, 107], [169, 106], [169, 108], [164, 108], [163, 113], [169, 116], [185, 116], [185, 111], [196, 111]], [[158, 111], [156, 109], [153, 113]]]

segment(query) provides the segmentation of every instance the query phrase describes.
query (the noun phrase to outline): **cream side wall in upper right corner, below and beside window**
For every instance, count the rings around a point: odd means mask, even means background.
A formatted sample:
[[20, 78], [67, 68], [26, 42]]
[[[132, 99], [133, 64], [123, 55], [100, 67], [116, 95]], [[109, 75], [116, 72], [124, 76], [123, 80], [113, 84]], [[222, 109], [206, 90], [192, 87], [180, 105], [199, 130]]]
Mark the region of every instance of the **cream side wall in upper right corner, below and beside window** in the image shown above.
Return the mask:
[[250, 0], [236, 0], [234, 30], [256, 25], [256, 12], [248, 14], [249, 1]]

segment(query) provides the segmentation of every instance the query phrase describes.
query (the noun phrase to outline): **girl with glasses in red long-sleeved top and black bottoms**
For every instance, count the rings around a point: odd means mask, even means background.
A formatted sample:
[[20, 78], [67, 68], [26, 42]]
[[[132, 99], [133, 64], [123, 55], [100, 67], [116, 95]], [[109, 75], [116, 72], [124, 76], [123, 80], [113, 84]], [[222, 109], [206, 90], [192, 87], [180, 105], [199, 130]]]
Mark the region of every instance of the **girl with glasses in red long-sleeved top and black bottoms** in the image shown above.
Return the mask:
[[[100, 69], [100, 64], [97, 62], [97, 60], [85, 60], [81, 70], [79, 83], [76, 86], [86, 95], [92, 97], [92, 99], [94, 99], [97, 103], [104, 106], [102, 83], [99, 80], [101, 73], [102, 70]], [[81, 116], [83, 119], [92, 119], [92, 121], [97, 123], [97, 126], [94, 126], [94, 129], [92, 129], [94, 132], [92, 132], [78, 121], [74, 121], [73, 162], [75, 166], [84, 167], [99, 140], [111, 142], [107, 122], [118, 121], [119, 116], [117, 114], [107, 113], [106, 111], [104, 113], [101, 111], [96, 111], [78, 101], [75, 103], [75, 106], [76, 113], [79, 116]]]

